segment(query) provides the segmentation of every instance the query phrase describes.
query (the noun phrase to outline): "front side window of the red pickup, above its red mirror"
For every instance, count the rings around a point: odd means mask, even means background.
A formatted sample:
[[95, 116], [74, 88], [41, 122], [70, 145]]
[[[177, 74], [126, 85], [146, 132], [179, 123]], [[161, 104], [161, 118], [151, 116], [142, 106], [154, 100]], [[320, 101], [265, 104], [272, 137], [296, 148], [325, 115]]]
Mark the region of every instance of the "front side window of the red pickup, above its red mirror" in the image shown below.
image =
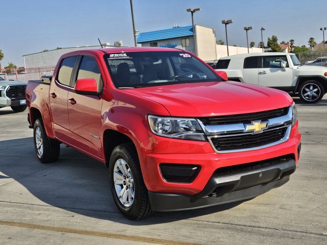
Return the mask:
[[78, 69], [77, 80], [83, 78], [94, 78], [97, 81], [99, 91], [101, 90], [103, 86], [101, 72], [97, 61], [90, 56], [83, 56], [80, 68]]

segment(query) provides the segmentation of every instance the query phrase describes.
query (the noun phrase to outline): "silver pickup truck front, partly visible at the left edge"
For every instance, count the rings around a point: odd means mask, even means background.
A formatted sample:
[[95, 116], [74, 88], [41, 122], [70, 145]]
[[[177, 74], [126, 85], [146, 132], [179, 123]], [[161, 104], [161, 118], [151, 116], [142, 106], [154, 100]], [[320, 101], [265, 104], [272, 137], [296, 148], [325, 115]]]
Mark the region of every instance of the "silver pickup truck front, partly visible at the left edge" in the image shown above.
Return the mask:
[[0, 77], [0, 108], [10, 106], [15, 112], [25, 111], [26, 83], [5, 80]]

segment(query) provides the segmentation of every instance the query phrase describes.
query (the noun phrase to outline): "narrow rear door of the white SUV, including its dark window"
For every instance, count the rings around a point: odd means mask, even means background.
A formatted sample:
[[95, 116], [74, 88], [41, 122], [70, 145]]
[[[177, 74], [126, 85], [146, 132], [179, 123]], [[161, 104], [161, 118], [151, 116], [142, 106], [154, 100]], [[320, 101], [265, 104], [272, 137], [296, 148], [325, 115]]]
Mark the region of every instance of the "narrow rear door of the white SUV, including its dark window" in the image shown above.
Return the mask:
[[259, 84], [259, 68], [261, 67], [260, 56], [250, 56], [244, 59], [243, 79], [246, 83]]

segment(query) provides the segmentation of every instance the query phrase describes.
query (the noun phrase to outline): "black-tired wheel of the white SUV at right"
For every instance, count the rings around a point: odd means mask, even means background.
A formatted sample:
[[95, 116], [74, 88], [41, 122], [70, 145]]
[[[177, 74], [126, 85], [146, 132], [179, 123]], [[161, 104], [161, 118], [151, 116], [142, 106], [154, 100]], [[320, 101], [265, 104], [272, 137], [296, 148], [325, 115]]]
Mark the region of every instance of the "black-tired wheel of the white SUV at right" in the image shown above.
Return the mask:
[[306, 81], [299, 87], [300, 99], [305, 103], [317, 103], [322, 99], [323, 95], [323, 86], [318, 81]]

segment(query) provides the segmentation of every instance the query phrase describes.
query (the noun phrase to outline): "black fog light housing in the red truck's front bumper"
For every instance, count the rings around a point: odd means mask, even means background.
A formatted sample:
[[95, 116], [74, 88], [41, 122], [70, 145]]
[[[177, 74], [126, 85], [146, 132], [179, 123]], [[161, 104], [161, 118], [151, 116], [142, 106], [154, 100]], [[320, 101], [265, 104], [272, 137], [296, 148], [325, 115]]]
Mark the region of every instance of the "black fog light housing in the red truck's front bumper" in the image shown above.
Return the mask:
[[201, 166], [184, 164], [160, 164], [162, 177], [167, 182], [191, 183], [198, 176]]

